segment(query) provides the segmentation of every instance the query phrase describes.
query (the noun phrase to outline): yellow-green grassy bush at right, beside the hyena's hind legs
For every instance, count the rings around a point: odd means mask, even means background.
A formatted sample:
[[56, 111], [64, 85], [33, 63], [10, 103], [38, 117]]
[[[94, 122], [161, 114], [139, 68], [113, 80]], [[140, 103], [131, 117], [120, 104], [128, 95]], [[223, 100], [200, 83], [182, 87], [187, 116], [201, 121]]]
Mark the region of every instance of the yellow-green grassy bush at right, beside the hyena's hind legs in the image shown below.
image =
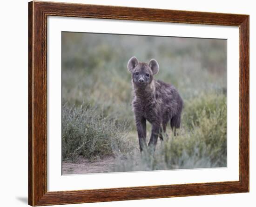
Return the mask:
[[[120, 160], [114, 171], [226, 167], [227, 111], [224, 95], [202, 95], [185, 103], [182, 128], [165, 137], [155, 153]], [[138, 156], [138, 155], [136, 155]], [[139, 156], [140, 157], [140, 156]]]

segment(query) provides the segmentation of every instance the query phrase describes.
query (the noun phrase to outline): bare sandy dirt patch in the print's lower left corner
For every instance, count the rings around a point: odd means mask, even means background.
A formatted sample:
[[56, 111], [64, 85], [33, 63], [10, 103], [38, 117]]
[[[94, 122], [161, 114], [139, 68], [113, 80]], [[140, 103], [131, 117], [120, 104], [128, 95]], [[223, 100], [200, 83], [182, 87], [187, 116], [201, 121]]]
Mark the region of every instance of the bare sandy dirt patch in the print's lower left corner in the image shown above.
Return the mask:
[[114, 165], [114, 157], [106, 157], [93, 162], [84, 158], [79, 158], [75, 163], [62, 162], [62, 174], [106, 173], [111, 172]]

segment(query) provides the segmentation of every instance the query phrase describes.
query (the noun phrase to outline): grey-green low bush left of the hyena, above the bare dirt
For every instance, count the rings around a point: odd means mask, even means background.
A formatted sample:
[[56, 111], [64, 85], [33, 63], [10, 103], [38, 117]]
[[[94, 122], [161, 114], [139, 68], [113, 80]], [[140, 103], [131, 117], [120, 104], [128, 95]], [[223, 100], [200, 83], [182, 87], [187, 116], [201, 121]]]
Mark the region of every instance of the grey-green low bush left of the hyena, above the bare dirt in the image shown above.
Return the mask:
[[126, 139], [128, 125], [89, 106], [62, 106], [62, 158], [75, 161], [78, 156], [95, 159], [133, 150]]

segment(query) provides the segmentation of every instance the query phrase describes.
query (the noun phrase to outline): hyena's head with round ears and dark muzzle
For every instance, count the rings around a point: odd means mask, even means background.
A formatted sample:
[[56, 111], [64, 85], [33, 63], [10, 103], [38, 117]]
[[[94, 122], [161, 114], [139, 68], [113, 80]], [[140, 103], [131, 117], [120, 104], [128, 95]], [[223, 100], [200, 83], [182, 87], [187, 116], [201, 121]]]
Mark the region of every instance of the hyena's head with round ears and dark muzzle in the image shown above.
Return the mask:
[[132, 73], [132, 80], [136, 87], [146, 87], [153, 80], [153, 75], [159, 71], [159, 65], [155, 59], [149, 63], [139, 62], [136, 57], [131, 57], [127, 64], [128, 71]]

